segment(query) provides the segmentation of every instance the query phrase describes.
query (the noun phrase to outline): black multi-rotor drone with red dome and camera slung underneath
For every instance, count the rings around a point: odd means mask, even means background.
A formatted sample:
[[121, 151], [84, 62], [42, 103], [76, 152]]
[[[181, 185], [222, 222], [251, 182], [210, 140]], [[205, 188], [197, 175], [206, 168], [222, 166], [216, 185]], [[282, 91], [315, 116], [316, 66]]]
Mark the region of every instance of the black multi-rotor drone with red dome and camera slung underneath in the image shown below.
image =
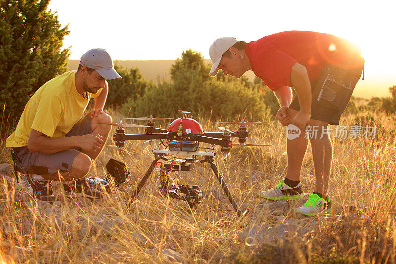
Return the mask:
[[[162, 148], [158, 147], [151, 150], [154, 155], [154, 160], [151, 162], [147, 172], [139, 182], [135, 191], [132, 193], [131, 199], [127, 202], [127, 208], [130, 208], [134, 201], [136, 201], [139, 192], [142, 190], [148, 177], [154, 170], [154, 167], [157, 165], [160, 165], [160, 193], [164, 197], [170, 197], [187, 202], [190, 209], [197, 208], [198, 204], [200, 204], [203, 199], [203, 191], [200, 190], [199, 186], [196, 184], [177, 184], [169, 174], [171, 172], [190, 171], [192, 164], [208, 162], [237, 215], [247, 215], [250, 209], [246, 208], [244, 211], [240, 210], [240, 207], [238, 207], [235, 202], [226, 182], [214, 163], [216, 151], [213, 145], [221, 146], [221, 152], [223, 153], [223, 157], [221, 159], [225, 159], [230, 155], [230, 150], [233, 146], [268, 146], [264, 144], [246, 143], [246, 139], [249, 135], [246, 125], [268, 123], [247, 122], [244, 120], [242, 120], [242, 122], [216, 122], [219, 124], [225, 124], [224, 127], [219, 127], [223, 132], [203, 132], [202, 126], [197, 120], [192, 118], [193, 116], [191, 112], [181, 111], [181, 114], [182, 117], [177, 119], [152, 117], [152, 115], [150, 117], [125, 118], [128, 120], [147, 121], [147, 125], [123, 124], [121, 120], [119, 123], [100, 123], [117, 126], [116, 132], [113, 135], [115, 146], [109, 147], [118, 151], [130, 153], [123, 148], [125, 141], [130, 140], [145, 140], [150, 143], [153, 140], [160, 140], [161, 144], [159, 146], [163, 146]], [[168, 129], [154, 127], [155, 120], [165, 119], [174, 119]], [[239, 124], [238, 131], [229, 130], [228, 124]], [[127, 127], [145, 127], [145, 133], [125, 134], [124, 128]], [[238, 143], [232, 143], [231, 138], [238, 138]], [[201, 147], [199, 143], [210, 144], [212, 145], [212, 148]]]

